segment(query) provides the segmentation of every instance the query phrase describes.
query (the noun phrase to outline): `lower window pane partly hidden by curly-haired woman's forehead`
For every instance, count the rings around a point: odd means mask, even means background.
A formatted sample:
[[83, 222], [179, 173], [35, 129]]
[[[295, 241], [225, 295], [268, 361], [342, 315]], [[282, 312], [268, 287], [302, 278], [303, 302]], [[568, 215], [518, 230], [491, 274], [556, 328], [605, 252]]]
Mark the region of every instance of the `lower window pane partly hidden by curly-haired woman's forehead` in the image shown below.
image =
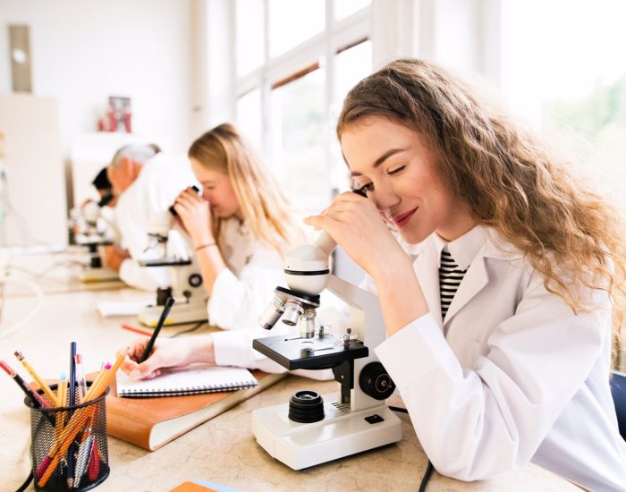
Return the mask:
[[348, 91], [356, 85], [358, 81], [367, 77], [372, 72], [372, 43], [365, 41], [355, 47], [346, 49], [334, 58], [335, 72], [335, 100], [331, 106], [329, 118], [329, 133], [331, 135], [331, 145], [333, 152], [333, 163], [331, 167], [330, 182], [331, 187], [337, 191], [345, 191], [350, 186], [348, 179], [348, 168], [343, 162], [342, 151], [337, 140], [335, 128], [337, 119], [342, 111], [343, 99]]

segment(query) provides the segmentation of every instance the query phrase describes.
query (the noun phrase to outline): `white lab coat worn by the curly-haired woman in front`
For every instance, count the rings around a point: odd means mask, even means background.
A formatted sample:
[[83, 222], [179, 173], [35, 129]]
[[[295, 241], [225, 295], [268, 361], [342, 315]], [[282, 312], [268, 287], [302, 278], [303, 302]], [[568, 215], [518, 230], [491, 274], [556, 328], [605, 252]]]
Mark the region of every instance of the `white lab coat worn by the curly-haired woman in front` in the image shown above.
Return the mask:
[[430, 312], [376, 348], [437, 471], [486, 479], [535, 462], [592, 490], [626, 490], [608, 384], [610, 302], [574, 315], [518, 250], [477, 226], [449, 244], [468, 267], [444, 322], [435, 235], [414, 270]]

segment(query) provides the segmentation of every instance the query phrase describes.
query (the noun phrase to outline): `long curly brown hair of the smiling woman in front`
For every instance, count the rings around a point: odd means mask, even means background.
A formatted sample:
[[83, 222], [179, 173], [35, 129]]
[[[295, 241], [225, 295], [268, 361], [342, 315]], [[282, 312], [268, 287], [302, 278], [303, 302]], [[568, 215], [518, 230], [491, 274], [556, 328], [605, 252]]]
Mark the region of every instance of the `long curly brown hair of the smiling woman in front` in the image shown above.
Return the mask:
[[590, 307], [577, 285], [608, 291], [617, 335], [625, 291], [622, 217], [573, 178], [568, 162], [459, 79], [417, 59], [393, 61], [351, 89], [337, 123], [340, 140], [368, 115], [422, 134], [447, 186], [480, 223], [523, 251], [546, 289], [574, 312]]

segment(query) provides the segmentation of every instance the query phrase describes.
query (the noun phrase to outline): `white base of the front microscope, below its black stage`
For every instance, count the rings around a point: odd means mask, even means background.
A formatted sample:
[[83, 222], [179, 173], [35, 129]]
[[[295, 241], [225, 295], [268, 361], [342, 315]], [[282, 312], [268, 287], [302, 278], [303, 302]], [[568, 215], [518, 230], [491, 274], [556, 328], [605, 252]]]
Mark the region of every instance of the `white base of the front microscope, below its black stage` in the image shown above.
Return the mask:
[[[293, 470], [402, 439], [402, 422], [384, 403], [351, 411], [334, 400], [334, 394], [324, 397], [325, 417], [313, 423], [289, 420], [288, 404], [258, 409], [252, 412], [252, 432], [268, 454]], [[380, 419], [369, 423], [373, 416]]]

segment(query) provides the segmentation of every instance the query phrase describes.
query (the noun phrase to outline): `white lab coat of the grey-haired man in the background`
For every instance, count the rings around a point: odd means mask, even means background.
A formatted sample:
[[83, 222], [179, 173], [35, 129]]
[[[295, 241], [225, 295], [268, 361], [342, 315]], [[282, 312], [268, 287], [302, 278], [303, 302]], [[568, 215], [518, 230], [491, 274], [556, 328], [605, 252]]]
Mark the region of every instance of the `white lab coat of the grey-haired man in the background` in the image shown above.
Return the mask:
[[161, 152], [148, 159], [137, 179], [117, 200], [115, 221], [122, 245], [131, 253], [131, 259], [125, 259], [120, 267], [125, 284], [147, 291], [172, 284], [171, 269], [140, 267], [138, 260], [157, 255], [155, 251], [144, 251], [151, 220], [166, 214], [178, 194], [193, 184], [196, 178], [187, 157]]

